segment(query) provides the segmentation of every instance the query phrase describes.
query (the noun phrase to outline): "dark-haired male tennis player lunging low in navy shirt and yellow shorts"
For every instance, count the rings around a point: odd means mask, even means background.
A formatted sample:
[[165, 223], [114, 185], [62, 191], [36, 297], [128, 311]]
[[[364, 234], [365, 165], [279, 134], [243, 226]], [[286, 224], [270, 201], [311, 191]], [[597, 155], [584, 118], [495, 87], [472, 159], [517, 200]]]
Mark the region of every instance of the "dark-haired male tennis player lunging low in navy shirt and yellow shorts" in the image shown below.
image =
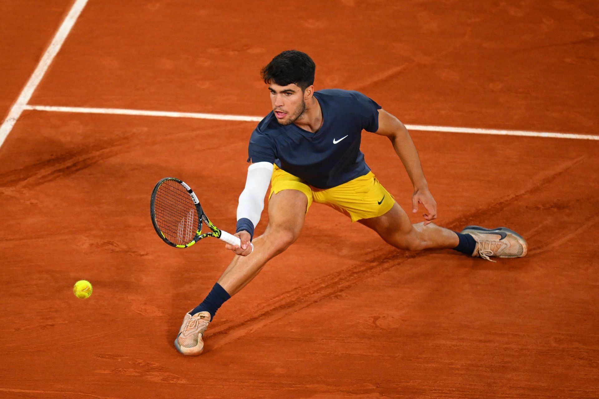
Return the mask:
[[[241, 246], [208, 296], [183, 319], [175, 346], [199, 355], [202, 335], [219, 307], [258, 275], [262, 266], [299, 236], [312, 202], [323, 203], [379, 233], [396, 248], [452, 248], [473, 257], [513, 258], [527, 242], [512, 230], [468, 226], [461, 233], [435, 226], [437, 204], [428, 190], [418, 152], [406, 127], [367, 96], [347, 90], [314, 92], [316, 66], [307, 54], [283, 51], [262, 69], [273, 110], [250, 137], [246, 187], [239, 197]], [[362, 130], [386, 136], [414, 185], [412, 212], [426, 209], [423, 223], [406, 212], [380, 184], [360, 151]], [[271, 184], [268, 226], [252, 242]]]

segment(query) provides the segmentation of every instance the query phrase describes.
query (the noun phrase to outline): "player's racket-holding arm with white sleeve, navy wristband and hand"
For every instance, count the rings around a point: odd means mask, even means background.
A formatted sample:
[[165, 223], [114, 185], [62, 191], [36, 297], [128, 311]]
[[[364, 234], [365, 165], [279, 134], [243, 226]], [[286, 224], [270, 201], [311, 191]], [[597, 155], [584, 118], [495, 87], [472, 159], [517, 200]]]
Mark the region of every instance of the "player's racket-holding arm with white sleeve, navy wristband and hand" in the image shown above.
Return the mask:
[[246, 187], [241, 191], [237, 206], [237, 233], [234, 234], [241, 240], [241, 247], [229, 244], [225, 246], [237, 255], [247, 256], [252, 253], [254, 229], [264, 210], [264, 196], [273, 175], [273, 167], [270, 162], [256, 162], [247, 168]]

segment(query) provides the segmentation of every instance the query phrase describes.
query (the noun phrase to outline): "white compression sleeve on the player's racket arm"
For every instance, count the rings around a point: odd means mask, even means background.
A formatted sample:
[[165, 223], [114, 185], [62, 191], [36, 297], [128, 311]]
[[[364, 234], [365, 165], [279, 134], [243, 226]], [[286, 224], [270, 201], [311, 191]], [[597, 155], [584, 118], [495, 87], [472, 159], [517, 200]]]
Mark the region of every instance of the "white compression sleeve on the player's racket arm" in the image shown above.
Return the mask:
[[262, 209], [264, 209], [264, 195], [273, 175], [273, 164], [270, 162], [252, 163], [247, 168], [246, 188], [241, 191], [239, 205], [237, 206], [237, 220], [248, 218], [258, 225]]

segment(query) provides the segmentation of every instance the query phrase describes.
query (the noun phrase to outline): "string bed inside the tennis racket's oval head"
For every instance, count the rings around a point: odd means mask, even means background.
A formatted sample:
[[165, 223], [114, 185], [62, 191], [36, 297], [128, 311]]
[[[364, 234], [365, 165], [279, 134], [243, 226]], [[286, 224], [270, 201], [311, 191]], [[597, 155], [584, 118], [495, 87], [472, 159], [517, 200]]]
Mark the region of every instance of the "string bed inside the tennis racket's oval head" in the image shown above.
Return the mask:
[[191, 196], [179, 182], [167, 180], [161, 184], [154, 209], [156, 223], [168, 240], [179, 245], [193, 240], [199, 215]]

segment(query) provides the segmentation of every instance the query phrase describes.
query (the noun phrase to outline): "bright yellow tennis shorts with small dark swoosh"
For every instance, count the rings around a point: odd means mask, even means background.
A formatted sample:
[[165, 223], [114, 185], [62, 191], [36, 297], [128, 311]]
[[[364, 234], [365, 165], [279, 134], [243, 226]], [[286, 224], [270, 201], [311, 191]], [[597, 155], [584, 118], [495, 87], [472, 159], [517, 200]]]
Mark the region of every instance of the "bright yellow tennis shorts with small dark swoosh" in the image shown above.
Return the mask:
[[346, 214], [352, 218], [352, 222], [384, 215], [395, 203], [394, 197], [374, 177], [373, 172], [336, 187], [316, 188], [274, 165], [270, 183], [269, 200], [279, 191], [298, 190], [308, 197], [306, 212], [312, 202], [323, 203]]

